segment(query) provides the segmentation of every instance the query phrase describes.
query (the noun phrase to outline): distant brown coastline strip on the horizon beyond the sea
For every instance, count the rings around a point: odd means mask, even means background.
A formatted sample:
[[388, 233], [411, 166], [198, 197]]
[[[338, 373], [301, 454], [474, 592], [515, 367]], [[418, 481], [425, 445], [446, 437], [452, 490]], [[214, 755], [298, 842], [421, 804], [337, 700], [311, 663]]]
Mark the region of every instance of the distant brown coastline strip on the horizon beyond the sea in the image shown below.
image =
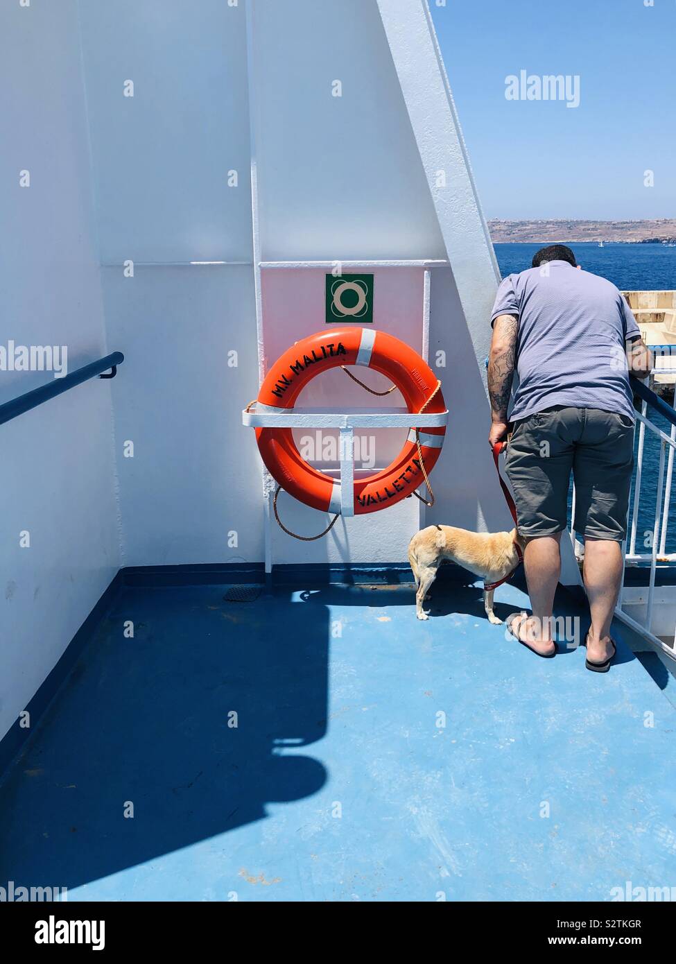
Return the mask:
[[675, 244], [676, 218], [658, 221], [502, 221], [488, 222], [498, 243], [554, 244], [604, 241], [620, 244]]

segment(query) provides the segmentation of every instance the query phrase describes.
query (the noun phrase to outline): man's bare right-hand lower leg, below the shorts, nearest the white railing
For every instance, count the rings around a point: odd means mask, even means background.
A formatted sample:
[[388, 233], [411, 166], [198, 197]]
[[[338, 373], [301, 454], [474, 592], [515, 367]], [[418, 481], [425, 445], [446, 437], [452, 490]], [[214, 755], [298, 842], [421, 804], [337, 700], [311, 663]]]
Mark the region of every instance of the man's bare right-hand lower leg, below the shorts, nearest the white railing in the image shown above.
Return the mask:
[[612, 656], [610, 623], [622, 579], [622, 544], [610, 539], [584, 540], [584, 588], [591, 610], [587, 659], [602, 662]]

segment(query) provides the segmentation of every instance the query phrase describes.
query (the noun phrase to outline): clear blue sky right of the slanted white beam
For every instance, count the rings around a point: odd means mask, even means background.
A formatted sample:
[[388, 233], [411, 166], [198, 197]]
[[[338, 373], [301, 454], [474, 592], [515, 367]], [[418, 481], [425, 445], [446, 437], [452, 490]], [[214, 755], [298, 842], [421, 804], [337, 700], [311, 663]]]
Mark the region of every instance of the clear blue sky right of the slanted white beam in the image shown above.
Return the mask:
[[[676, 217], [676, 0], [437, 2], [487, 217]], [[505, 99], [522, 69], [580, 75], [580, 106]]]

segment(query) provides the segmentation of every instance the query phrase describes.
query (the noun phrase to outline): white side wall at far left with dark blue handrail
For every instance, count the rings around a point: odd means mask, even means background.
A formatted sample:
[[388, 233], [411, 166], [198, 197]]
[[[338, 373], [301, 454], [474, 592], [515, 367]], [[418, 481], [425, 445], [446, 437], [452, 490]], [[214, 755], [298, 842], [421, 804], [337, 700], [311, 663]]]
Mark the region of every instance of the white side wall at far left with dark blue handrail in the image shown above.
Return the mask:
[[[73, 370], [107, 354], [75, 0], [2, 4], [0, 87], [0, 341]], [[0, 371], [0, 402], [50, 378]], [[0, 736], [120, 567], [110, 385], [0, 426]]]

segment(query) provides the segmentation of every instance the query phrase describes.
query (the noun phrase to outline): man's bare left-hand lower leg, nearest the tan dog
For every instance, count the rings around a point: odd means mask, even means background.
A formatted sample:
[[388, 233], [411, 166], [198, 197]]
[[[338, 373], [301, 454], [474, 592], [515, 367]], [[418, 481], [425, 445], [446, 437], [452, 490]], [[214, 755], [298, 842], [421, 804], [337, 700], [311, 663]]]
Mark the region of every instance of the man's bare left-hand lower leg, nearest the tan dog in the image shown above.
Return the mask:
[[552, 616], [554, 593], [561, 574], [561, 533], [529, 539], [524, 551], [524, 567], [528, 584], [528, 596], [533, 610], [519, 628], [520, 638], [529, 646], [545, 655], [554, 653], [552, 640]]

